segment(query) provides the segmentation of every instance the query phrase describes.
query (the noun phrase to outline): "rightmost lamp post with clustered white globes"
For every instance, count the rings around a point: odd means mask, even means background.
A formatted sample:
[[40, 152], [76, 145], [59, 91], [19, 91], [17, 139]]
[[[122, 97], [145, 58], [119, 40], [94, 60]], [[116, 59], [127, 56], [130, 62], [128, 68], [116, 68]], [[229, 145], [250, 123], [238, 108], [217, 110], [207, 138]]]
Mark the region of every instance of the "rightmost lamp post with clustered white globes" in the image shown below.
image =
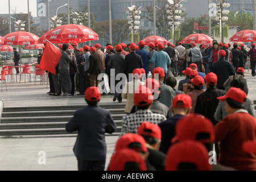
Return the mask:
[[224, 8], [229, 8], [230, 4], [226, 3], [225, 1], [230, 1], [230, 0], [213, 0], [213, 7], [216, 8], [214, 14], [216, 15], [215, 20], [220, 21], [218, 24], [220, 24], [220, 34], [221, 34], [221, 42], [224, 42], [224, 25], [226, 21], [228, 21], [228, 15], [229, 10], [224, 10]]

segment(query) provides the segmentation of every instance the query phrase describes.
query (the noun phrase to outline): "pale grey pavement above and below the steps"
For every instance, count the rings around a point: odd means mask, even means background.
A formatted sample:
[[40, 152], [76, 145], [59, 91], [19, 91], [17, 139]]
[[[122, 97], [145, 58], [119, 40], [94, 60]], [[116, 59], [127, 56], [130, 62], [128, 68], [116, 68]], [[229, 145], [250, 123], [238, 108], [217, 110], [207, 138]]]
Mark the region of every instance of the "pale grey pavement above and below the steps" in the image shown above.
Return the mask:
[[[256, 100], [256, 89], [254, 86], [256, 77], [246, 70], [245, 78], [249, 87], [248, 97]], [[39, 80], [39, 77], [37, 78]], [[177, 84], [184, 77], [176, 77]], [[65, 98], [62, 96], [48, 96], [49, 85], [47, 82], [7, 82], [7, 91], [3, 85], [0, 90], [0, 100], [4, 107], [16, 106], [59, 106], [59, 105], [83, 105], [84, 96]], [[113, 95], [104, 95], [100, 104], [115, 104]], [[125, 101], [124, 101], [125, 102]], [[118, 137], [106, 137], [107, 160], [112, 156], [115, 142]], [[73, 154], [75, 137], [28, 137], [28, 138], [0, 138], [0, 170], [1, 171], [76, 171], [77, 160]]]

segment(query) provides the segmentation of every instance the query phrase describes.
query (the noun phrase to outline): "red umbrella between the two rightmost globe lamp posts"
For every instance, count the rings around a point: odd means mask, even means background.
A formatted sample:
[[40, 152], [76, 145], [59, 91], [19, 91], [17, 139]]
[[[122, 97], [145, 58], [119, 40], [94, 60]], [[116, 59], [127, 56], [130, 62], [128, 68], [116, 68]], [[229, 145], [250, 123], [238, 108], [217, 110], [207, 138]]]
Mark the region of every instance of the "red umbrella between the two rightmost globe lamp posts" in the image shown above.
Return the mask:
[[191, 34], [181, 40], [183, 44], [211, 44], [213, 39], [205, 34]]

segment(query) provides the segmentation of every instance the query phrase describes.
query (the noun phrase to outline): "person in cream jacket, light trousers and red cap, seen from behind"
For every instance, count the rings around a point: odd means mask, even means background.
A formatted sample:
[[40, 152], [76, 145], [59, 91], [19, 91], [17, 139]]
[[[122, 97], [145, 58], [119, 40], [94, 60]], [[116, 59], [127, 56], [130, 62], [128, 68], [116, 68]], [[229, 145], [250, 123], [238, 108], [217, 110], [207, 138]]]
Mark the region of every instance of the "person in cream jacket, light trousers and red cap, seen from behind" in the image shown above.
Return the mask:
[[125, 105], [125, 112], [127, 114], [131, 113], [131, 109], [134, 106], [134, 92], [139, 88], [139, 85], [142, 85], [141, 82], [141, 70], [139, 68], [134, 69], [133, 71], [133, 81], [127, 82], [125, 88], [123, 88], [122, 98], [127, 100]]

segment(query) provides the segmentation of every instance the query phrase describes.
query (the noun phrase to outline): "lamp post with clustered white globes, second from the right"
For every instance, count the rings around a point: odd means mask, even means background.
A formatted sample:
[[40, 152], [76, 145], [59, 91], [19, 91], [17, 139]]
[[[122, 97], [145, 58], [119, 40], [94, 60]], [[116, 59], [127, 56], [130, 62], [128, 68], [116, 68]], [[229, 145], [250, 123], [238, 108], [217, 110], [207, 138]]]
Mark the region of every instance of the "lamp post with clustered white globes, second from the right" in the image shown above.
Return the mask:
[[167, 4], [167, 18], [170, 20], [168, 24], [172, 26], [172, 44], [176, 44], [175, 40], [175, 29], [180, 25], [179, 20], [181, 19], [180, 14], [182, 10], [180, 10], [183, 6], [179, 4], [177, 0], [166, 0]]

